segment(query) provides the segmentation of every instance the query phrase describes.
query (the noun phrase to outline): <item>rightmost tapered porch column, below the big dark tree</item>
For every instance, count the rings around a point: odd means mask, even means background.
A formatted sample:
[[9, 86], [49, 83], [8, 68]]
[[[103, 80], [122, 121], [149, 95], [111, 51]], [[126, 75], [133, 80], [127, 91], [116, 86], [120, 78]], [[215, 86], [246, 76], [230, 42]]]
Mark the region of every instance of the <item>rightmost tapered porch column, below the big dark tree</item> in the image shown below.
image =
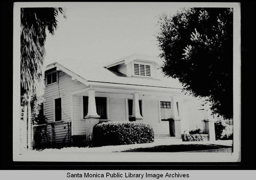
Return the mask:
[[215, 120], [211, 115], [211, 110], [208, 104], [204, 105], [205, 117], [204, 117], [204, 133], [208, 134], [209, 141], [215, 141]]

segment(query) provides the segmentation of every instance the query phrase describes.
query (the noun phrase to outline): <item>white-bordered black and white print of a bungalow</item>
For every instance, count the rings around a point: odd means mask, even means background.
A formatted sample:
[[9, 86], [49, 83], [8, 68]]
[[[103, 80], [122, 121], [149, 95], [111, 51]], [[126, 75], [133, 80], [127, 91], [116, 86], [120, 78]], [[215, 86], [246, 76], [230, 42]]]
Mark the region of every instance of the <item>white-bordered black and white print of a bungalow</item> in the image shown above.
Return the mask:
[[13, 161], [240, 162], [239, 3], [14, 3]]

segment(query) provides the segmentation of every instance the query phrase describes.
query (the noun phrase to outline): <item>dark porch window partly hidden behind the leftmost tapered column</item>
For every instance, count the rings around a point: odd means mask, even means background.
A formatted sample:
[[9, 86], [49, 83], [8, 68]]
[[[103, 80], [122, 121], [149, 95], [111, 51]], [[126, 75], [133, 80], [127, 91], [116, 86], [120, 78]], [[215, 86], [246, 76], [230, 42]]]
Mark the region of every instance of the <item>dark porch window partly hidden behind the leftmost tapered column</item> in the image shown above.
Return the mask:
[[[99, 119], [108, 119], [106, 117], [106, 97], [95, 97], [96, 111]], [[88, 114], [88, 96], [83, 96], [83, 118]]]

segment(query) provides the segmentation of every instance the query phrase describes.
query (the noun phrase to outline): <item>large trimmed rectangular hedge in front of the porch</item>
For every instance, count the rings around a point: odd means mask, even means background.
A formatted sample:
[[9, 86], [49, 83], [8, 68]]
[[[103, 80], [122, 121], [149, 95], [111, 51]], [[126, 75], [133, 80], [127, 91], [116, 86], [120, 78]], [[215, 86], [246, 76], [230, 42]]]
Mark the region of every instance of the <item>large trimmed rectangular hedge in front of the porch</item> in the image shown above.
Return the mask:
[[93, 146], [154, 142], [153, 128], [139, 122], [102, 122], [93, 129]]

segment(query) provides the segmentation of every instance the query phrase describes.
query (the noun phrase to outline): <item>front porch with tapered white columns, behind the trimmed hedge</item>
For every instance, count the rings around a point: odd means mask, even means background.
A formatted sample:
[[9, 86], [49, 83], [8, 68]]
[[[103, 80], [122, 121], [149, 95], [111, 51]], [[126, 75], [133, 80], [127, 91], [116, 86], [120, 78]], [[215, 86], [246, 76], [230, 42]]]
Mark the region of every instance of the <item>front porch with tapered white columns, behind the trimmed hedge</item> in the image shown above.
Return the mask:
[[93, 126], [99, 122], [138, 121], [150, 124], [156, 137], [181, 139], [181, 132], [187, 129], [183, 98], [179, 91], [169, 89], [156, 92], [90, 87], [74, 92], [71, 95], [72, 136], [93, 138]]

